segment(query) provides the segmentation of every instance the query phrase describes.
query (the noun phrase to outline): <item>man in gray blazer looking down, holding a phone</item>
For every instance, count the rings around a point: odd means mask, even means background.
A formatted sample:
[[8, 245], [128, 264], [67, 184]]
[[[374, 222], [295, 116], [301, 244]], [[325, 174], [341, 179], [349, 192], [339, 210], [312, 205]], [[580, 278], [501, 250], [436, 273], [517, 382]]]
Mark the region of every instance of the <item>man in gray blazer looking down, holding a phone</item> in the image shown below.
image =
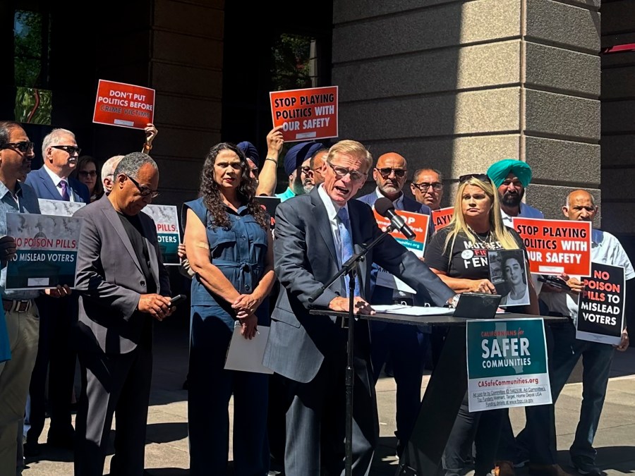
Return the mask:
[[82, 396], [75, 420], [75, 476], [101, 476], [116, 412], [113, 475], [143, 475], [152, 376], [152, 322], [174, 310], [150, 216], [158, 195], [150, 156], [121, 159], [112, 192], [74, 216], [84, 219], [78, 250], [78, 356]]

